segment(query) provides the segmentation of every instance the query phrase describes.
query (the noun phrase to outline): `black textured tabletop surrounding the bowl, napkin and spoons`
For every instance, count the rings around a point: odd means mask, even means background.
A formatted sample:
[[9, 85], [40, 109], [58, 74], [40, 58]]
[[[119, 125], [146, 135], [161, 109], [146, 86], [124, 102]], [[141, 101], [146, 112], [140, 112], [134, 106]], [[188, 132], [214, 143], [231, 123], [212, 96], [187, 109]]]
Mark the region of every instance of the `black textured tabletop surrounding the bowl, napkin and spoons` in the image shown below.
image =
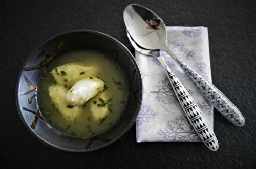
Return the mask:
[[[90, 153], [68, 153], [38, 142], [24, 127], [15, 103], [18, 72], [41, 42], [73, 29], [113, 36], [134, 52], [122, 12], [138, 3], [166, 25], [206, 26], [214, 84], [243, 112], [237, 127], [216, 112], [220, 148], [202, 143], [136, 143], [135, 126], [114, 144]], [[256, 1], [2, 1], [1, 166], [58, 168], [255, 168], [256, 167]], [[90, 167], [89, 167], [90, 166]]]

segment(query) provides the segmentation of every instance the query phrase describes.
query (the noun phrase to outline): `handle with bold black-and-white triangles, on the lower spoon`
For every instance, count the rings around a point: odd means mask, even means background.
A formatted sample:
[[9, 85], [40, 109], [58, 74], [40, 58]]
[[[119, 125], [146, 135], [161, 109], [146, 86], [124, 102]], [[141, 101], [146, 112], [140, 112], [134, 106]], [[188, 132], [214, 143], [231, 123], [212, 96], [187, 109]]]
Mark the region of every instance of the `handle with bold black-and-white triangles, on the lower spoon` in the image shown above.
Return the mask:
[[215, 136], [214, 131], [210, 128], [208, 121], [206, 120], [204, 115], [201, 113], [201, 110], [197, 106], [197, 103], [187, 92], [186, 88], [183, 86], [180, 80], [170, 70], [168, 65], [163, 60], [163, 58], [160, 56], [157, 57], [157, 59], [164, 67], [164, 71], [168, 76], [170, 84], [172, 85], [175, 95], [178, 98], [188, 121], [193, 126], [202, 142], [210, 150], [216, 151], [219, 148], [218, 140]]

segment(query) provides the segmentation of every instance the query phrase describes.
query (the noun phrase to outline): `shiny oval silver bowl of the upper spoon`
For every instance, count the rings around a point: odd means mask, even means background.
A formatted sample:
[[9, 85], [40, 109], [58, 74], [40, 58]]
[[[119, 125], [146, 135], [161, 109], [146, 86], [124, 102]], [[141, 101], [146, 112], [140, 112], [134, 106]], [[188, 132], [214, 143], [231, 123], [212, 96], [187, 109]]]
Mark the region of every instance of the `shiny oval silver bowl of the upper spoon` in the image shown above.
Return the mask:
[[153, 11], [131, 4], [124, 9], [123, 19], [127, 31], [141, 47], [155, 50], [166, 48], [166, 26]]

